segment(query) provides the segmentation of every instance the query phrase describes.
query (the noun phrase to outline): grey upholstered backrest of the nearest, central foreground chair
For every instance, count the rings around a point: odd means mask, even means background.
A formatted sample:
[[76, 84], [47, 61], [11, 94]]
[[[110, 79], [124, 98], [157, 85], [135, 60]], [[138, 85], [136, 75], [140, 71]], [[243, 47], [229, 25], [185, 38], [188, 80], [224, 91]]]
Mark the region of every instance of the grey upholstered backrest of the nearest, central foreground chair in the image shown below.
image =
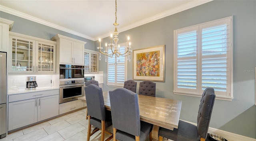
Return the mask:
[[109, 91], [113, 127], [140, 136], [138, 94], [125, 88]]

